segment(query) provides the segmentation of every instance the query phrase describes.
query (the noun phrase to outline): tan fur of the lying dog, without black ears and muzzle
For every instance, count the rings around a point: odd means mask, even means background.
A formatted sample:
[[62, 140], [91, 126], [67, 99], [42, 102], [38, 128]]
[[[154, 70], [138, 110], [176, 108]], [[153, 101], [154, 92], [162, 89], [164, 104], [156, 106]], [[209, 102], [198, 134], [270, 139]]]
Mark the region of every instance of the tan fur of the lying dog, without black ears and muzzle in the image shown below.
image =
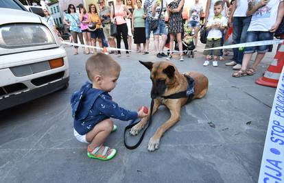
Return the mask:
[[[151, 62], [152, 63], [152, 62]], [[174, 73], [174, 78], [171, 80], [165, 73], [163, 73], [163, 70], [167, 68], [167, 66], [174, 66], [174, 69], [176, 70]], [[149, 69], [149, 68], [148, 68]], [[174, 93], [178, 93], [180, 91], [187, 90], [188, 82], [185, 76], [183, 76], [181, 73], [178, 72], [178, 69], [176, 69], [176, 66], [172, 64], [171, 62], [154, 62], [152, 63], [152, 69], [151, 71], [151, 77], [152, 80], [165, 80], [165, 84], [167, 86], [167, 89], [165, 90], [164, 96], [168, 96]], [[206, 95], [208, 90], [208, 78], [203, 75], [202, 73], [197, 72], [189, 72], [187, 73], [190, 77], [192, 77], [195, 81], [194, 87], [195, 87], [195, 95], [193, 96], [193, 99], [199, 99], [204, 97]], [[152, 114], [156, 112], [158, 109], [158, 106], [165, 105], [167, 108], [169, 108], [169, 111], [171, 112], [171, 117], [169, 120], [167, 120], [163, 125], [158, 127], [158, 130], [156, 130], [154, 136], [150, 138], [150, 141], [148, 143], [148, 150], [154, 151], [155, 149], [158, 149], [158, 145], [160, 143], [161, 137], [163, 134], [174, 124], [176, 124], [178, 121], [180, 121], [180, 110], [181, 107], [187, 103], [187, 98], [180, 98], [180, 99], [163, 99], [158, 98], [154, 99], [154, 106], [152, 109]], [[130, 134], [137, 135], [147, 124], [147, 121], [150, 116], [147, 116], [141, 120], [140, 123], [137, 125], [134, 125], [132, 129], [130, 130]]]

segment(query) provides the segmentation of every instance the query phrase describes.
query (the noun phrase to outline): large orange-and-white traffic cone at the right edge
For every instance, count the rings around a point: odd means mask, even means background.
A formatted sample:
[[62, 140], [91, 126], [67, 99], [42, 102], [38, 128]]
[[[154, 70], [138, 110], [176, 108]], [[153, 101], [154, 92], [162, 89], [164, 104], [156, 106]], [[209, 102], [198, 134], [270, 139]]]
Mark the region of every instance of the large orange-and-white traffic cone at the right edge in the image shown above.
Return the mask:
[[255, 81], [255, 83], [263, 86], [270, 86], [276, 88], [279, 82], [281, 71], [283, 69], [283, 65], [284, 42], [282, 42], [279, 51], [277, 51], [276, 55], [274, 56], [274, 59], [272, 60], [272, 63], [270, 64], [270, 66], [268, 66], [268, 69], [267, 71], [265, 71], [263, 77], [259, 77], [259, 79]]

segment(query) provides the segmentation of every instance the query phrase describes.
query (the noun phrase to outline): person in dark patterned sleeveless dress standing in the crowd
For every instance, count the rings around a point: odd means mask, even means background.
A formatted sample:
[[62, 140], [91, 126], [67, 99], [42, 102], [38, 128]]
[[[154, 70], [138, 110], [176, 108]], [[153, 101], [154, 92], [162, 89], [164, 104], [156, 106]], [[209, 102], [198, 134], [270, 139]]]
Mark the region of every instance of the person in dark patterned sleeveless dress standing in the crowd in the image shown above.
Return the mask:
[[180, 51], [180, 61], [183, 61], [182, 56], [182, 32], [183, 32], [183, 24], [182, 24], [182, 10], [185, 0], [174, 0], [171, 3], [167, 3], [167, 10], [169, 14], [169, 56], [167, 60], [171, 59], [171, 54], [174, 49], [174, 38], [176, 34], [176, 39], [178, 40], [178, 50]]

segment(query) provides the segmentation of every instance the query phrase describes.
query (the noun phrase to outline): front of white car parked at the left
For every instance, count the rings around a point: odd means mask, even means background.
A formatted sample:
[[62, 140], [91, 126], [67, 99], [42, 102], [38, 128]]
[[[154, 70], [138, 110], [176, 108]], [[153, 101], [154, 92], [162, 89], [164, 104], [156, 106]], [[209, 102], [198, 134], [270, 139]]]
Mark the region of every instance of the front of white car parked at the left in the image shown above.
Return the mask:
[[67, 54], [46, 21], [24, 8], [0, 17], [0, 110], [67, 88]]

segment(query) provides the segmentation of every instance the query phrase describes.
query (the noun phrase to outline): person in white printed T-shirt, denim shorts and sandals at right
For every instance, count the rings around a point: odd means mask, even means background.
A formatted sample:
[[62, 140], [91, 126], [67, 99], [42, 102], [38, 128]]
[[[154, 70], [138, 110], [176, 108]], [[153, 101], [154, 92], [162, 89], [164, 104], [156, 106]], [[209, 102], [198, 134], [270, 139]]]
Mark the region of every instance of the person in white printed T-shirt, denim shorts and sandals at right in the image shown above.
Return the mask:
[[[246, 42], [254, 42], [261, 40], [273, 40], [273, 34], [279, 27], [284, 13], [283, 0], [251, 0], [248, 1], [247, 16], [252, 15], [248, 34], [246, 34]], [[233, 73], [233, 77], [241, 77], [244, 75], [254, 75], [257, 71], [257, 65], [261, 62], [265, 53], [268, 51], [269, 45], [258, 47], [245, 47], [244, 58], [241, 69]], [[257, 51], [255, 62], [248, 68], [252, 53]]]

